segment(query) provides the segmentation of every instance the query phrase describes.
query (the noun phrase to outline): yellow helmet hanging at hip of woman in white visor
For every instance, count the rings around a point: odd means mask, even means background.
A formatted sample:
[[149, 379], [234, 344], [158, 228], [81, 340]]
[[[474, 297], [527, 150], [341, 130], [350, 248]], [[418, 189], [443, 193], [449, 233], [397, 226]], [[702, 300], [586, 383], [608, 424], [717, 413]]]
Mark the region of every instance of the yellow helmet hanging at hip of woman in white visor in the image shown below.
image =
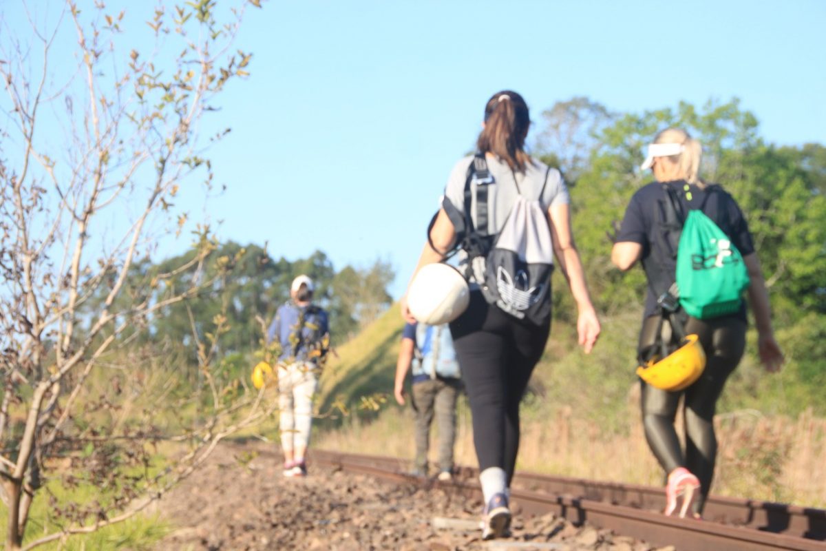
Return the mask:
[[695, 382], [705, 369], [705, 350], [697, 335], [686, 335], [680, 348], [659, 359], [655, 356], [644, 366], [637, 368], [637, 374], [652, 387], [667, 391], [678, 391]]

